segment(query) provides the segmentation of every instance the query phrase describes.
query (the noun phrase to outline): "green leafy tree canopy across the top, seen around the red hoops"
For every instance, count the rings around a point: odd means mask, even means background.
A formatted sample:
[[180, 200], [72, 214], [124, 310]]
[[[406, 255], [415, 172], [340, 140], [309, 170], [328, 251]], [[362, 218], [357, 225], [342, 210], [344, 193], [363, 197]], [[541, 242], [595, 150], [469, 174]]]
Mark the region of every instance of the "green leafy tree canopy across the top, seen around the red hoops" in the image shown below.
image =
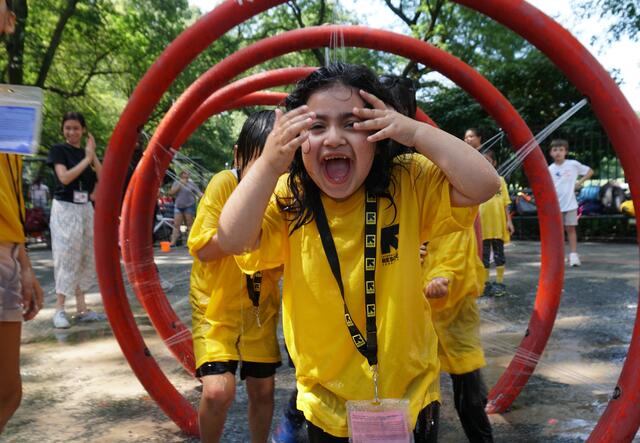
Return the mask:
[[[452, 53], [488, 77], [534, 130], [550, 123], [581, 98], [535, 48], [475, 11], [448, 0], [379, 1], [389, 14], [406, 25], [407, 33]], [[60, 141], [60, 119], [68, 110], [85, 114], [89, 130], [104, 148], [144, 73], [164, 48], [202, 15], [187, 0], [12, 0], [11, 3], [17, 15], [16, 32], [0, 37], [0, 83], [34, 85], [44, 90], [42, 154]], [[638, 0], [584, 3], [600, 8], [598, 13], [623, 19], [620, 23], [624, 27], [613, 29], [613, 36], [620, 32], [637, 36]], [[621, 9], [622, 3], [625, 6]], [[163, 96], [145, 125], [145, 132], [152, 134], [179, 95], [235, 50], [290, 29], [360, 21], [356, 13], [339, 2], [327, 0], [292, 0], [254, 17], [231, 30], [189, 65]], [[419, 99], [425, 110], [456, 135], [462, 136], [467, 126], [482, 125], [489, 132], [498, 130], [462, 90], [434, 79], [428, 66], [362, 49], [334, 49], [328, 54], [366, 64], [380, 73], [396, 72], [412, 77], [421, 86]], [[292, 53], [264, 63], [252, 72], [318, 66], [325, 63], [326, 55], [324, 50]], [[231, 160], [234, 137], [248, 111], [228, 112], [210, 119], [185, 143], [182, 152], [197, 158], [210, 171], [224, 167]], [[568, 137], [601, 135], [597, 121], [588, 111], [578, 114], [562, 131]]]

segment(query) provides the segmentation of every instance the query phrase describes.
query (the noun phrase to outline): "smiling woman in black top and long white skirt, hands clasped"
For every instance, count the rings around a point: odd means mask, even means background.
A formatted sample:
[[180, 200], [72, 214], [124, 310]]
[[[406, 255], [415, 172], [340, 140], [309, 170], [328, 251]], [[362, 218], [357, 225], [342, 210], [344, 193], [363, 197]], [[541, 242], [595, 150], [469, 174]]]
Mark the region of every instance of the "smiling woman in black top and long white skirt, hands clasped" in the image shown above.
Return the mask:
[[[53, 317], [56, 328], [70, 326], [64, 310], [67, 297], [76, 297], [77, 320], [99, 319], [95, 312], [87, 309], [84, 293], [95, 281], [92, 202], [102, 164], [82, 114], [67, 112], [62, 118], [62, 134], [65, 143], [54, 145], [47, 159], [55, 172], [50, 225], [57, 295]], [[85, 134], [86, 146], [82, 148]]]

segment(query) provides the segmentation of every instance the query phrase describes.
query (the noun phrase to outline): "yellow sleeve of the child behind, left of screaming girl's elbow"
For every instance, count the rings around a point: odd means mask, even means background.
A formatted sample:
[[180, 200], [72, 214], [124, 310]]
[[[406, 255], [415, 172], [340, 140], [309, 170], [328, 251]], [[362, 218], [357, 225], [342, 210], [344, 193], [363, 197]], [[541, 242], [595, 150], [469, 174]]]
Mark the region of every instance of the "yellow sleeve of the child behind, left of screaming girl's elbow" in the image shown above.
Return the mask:
[[238, 185], [238, 180], [232, 171], [222, 171], [216, 174], [204, 191], [198, 204], [196, 218], [189, 233], [187, 247], [192, 256], [202, 249], [218, 232], [218, 219], [225, 202]]

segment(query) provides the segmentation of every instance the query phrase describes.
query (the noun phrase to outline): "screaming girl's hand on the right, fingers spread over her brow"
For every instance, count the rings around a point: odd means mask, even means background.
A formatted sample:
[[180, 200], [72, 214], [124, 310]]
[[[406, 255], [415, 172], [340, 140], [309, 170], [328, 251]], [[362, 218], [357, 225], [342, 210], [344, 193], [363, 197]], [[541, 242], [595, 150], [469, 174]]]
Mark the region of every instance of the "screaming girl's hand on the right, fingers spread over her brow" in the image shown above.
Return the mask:
[[378, 131], [367, 137], [368, 141], [377, 142], [390, 138], [404, 146], [415, 146], [416, 133], [420, 125], [418, 121], [393, 110], [373, 94], [360, 90], [360, 96], [373, 106], [373, 109], [354, 108], [354, 115], [363, 120], [355, 123], [354, 128], [362, 131]]

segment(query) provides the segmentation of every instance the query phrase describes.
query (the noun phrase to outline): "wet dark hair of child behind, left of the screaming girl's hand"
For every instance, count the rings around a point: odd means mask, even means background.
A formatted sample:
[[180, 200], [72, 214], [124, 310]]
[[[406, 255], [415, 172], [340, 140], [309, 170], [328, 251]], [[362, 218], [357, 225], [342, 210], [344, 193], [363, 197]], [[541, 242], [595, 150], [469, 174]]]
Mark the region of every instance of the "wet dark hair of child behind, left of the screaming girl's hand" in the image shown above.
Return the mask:
[[244, 168], [251, 160], [262, 154], [267, 136], [273, 129], [276, 114], [273, 111], [257, 111], [249, 115], [242, 125], [236, 146], [238, 176], [242, 178]]

